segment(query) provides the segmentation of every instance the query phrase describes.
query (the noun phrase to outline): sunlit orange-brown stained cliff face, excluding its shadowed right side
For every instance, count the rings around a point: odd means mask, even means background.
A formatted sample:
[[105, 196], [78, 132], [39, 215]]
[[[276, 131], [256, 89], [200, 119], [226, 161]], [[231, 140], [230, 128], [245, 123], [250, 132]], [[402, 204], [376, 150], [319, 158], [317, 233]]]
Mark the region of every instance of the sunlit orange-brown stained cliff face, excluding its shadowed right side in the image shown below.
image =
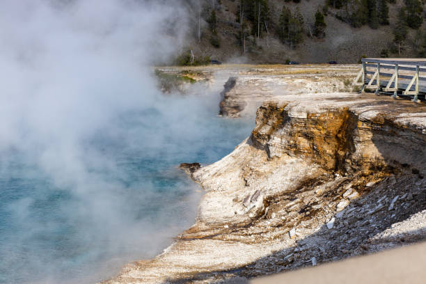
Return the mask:
[[315, 113], [286, 107], [286, 103], [268, 102], [258, 109], [253, 144], [269, 157], [285, 153], [312, 159], [329, 171], [345, 171], [345, 159], [354, 151], [354, 113], [347, 107]]

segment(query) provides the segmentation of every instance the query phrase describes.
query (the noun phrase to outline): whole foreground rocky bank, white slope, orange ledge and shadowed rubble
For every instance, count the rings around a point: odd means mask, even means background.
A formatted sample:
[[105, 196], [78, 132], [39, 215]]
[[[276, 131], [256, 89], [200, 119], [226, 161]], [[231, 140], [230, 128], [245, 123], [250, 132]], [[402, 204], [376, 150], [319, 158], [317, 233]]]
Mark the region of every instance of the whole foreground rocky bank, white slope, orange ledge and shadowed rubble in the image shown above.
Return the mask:
[[[264, 102], [250, 137], [192, 173], [207, 191], [194, 226], [107, 283], [220, 283], [400, 245], [381, 236], [426, 210], [425, 146], [423, 104], [354, 93]], [[414, 235], [404, 244], [425, 239]]]

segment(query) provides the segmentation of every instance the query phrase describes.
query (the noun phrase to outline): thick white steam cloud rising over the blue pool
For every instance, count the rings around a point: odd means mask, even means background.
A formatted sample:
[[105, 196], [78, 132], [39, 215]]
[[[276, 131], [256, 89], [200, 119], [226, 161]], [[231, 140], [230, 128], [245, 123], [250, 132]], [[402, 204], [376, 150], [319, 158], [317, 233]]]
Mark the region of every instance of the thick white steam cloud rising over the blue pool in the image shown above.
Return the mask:
[[[182, 226], [182, 221], [171, 219], [173, 216], [157, 215], [155, 220], [172, 226], [161, 232], [163, 227], [138, 216], [141, 212], [134, 207], [146, 205], [155, 186], [152, 180], [126, 184], [129, 175], [120, 166], [123, 153], [111, 151], [143, 148], [143, 155], [138, 152], [141, 156], [134, 159], [161, 156], [178, 161], [191, 148], [191, 139], [210, 131], [208, 125], [199, 123], [205, 109], [214, 109], [216, 98], [161, 96], [148, 67], [154, 61], [164, 61], [180, 46], [185, 18], [178, 1], [0, 3], [1, 180], [10, 182], [7, 175], [17, 159], [22, 160], [26, 168], [19, 174], [25, 173], [25, 178], [34, 182], [47, 180], [46, 187], [56, 189], [56, 196], [70, 196], [68, 203], [52, 208], [60, 213], [54, 217], [78, 223], [81, 243], [89, 244], [91, 251], [98, 248], [95, 253], [105, 258], [118, 251], [133, 251], [135, 258], [143, 257], [141, 252], [152, 256]], [[130, 124], [137, 126], [131, 129], [125, 126], [129, 113], [136, 113]], [[152, 119], [147, 121], [147, 117]], [[132, 132], [140, 127], [143, 135]], [[171, 157], [176, 153], [178, 157]], [[189, 184], [173, 186], [187, 188]], [[141, 189], [134, 190], [138, 194], [129, 199], [123, 194], [129, 187]], [[40, 190], [40, 194], [47, 191], [42, 185], [33, 190]], [[175, 206], [183, 219], [194, 216], [198, 198], [191, 189], [184, 192], [183, 197], [171, 194], [164, 201]], [[55, 232], [61, 223], [45, 223], [42, 217], [31, 215], [36, 202], [45, 206], [35, 196], [6, 201], [8, 195], [3, 191], [0, 197], [6, 226], [18, 224], [20, 232], [0, 239], [0, 274], [16, 274], [15, 281], [34, 283], [84, 283], [105, 278], [108, 274], [102, 273], [108, 267], [87, 277], [87, 271], [66, 271], [68, 256], [55, 254], [61, 248], [34, 248], [41, 242], [40, 236]], [[172, 203], [173, 198], [178, 201]], [[180, 208], [188, 205], [188, 210]], [[58, 232], [57, 237], [68, 236]], [[22, 251], [40, 251], [29, 254], [36, 255], [34, 258], [20, 259], [7, 253], [11, 244]], [[76, 247], [74, 253], [85, 249]], [[85, 257], [95, 261], [100, 255]], [[115, 265], [111, 264], [114, 269]], [[99, 267], [94, 265], [93, 269]], [[38, 271], [42, 271], [40, 278], [35, 274]], [[74, 278], [67, 280], [70, 274]]]

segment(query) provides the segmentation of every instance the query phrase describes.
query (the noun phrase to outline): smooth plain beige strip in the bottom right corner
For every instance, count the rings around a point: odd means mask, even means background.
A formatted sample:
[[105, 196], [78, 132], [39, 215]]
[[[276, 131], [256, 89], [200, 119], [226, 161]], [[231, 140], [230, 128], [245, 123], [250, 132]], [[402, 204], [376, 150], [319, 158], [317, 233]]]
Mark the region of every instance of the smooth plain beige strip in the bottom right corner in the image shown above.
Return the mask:
[[300, 269], [250, 281], [253, 284], [281, 283], [426, 283], [426, 242], [374, 255]]

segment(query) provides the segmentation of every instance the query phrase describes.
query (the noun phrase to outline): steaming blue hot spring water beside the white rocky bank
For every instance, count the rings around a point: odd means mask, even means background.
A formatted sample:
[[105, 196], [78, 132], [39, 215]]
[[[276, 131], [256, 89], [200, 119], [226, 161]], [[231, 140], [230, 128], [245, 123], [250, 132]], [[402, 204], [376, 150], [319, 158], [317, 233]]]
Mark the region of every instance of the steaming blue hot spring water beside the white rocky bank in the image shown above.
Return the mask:
[[0, 283], [91, 283], [161, 252], [200, 198], [176, 166], [217, 161], [253, 128], [217, 117], [218, 99], [121, 113], [78, 141], [84, 175], [52, 174], [33, 148], [1, 152]]

